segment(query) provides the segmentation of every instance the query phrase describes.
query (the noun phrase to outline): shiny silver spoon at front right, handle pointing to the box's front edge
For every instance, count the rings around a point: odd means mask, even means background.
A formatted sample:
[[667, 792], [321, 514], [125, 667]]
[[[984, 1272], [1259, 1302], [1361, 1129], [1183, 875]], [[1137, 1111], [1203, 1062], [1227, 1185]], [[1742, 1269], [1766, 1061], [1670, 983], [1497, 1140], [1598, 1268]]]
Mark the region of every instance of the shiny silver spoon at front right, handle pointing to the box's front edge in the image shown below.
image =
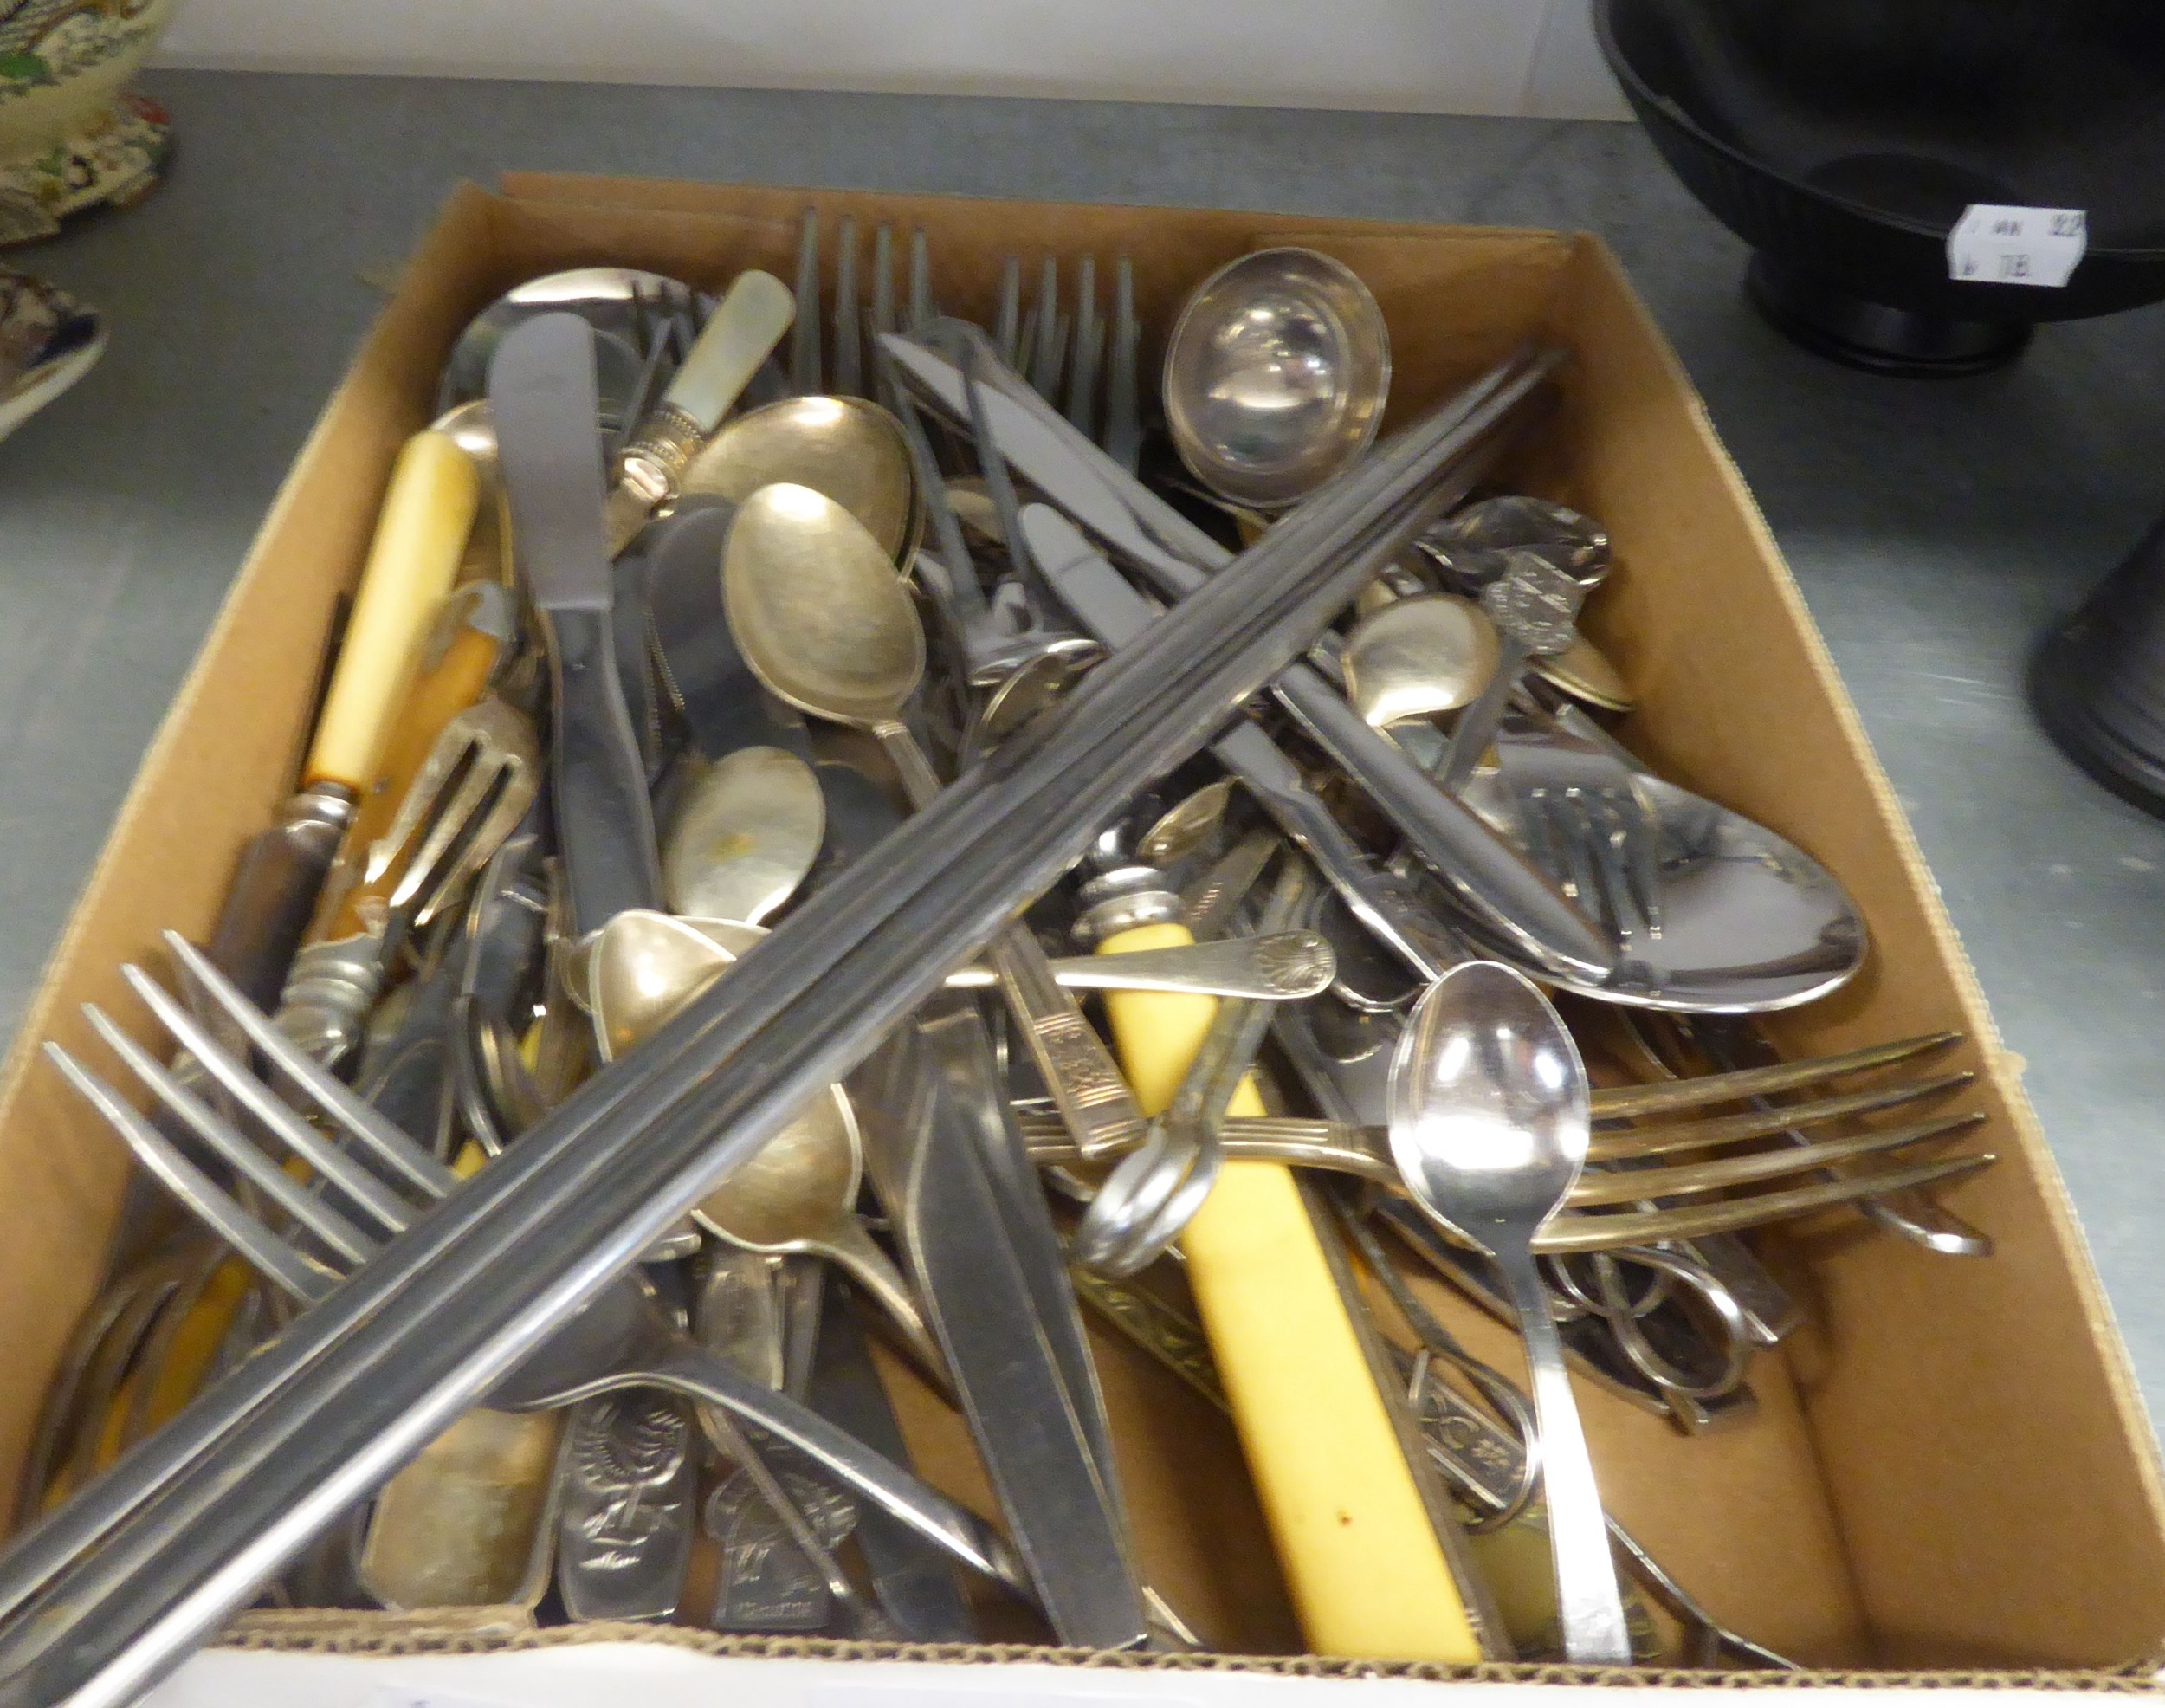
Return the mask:
[[1468, 961], [1429, 985], [1390, 1065], [1392, 1160], [1438, 1225], [1496, 1260], [1526, 1338], [1563, 1650], [1628, 1667], [1609, 1522], [1533, 1256], [1587, 1143], [1587, 1069], [1548, 998], [1498, 961]]

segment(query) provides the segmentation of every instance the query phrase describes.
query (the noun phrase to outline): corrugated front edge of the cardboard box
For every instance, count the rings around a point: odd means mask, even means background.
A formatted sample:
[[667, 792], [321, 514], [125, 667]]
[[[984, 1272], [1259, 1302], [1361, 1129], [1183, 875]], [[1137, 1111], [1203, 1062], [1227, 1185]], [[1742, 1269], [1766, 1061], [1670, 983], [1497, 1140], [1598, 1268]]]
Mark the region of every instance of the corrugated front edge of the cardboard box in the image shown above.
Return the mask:
[[[290, 1621], [290, 1624], [288, 1624]], [[1440, 1667], [1429, 1660], [1331, 1660], [1316, 1654], [1128, 1654], [1106, 1650], [1054, 1650], [1028, 1643], [842, 1643], [823, 1637], [721, 1637], [682, 1626], [591, 1624], [522, 1630], [502, 1624], [359, 1624], [305, 1615], [249, 1615], [232, 1626], [219, 1647], [260, 1654], [342, 1654], [390, 1660], [398, 1656], [517, 1654], [524, 1650], [587, 1647], [593, 1643], [643, 1643], [686, 1654], [738, 1660], [911, 1660], [948, 1667], [996, 1667], [1035, 1663], [1076, 1671], [1154, 1673], [1260, 1673], [1264, 1678], [1403, 1678], [1438, 1684], [1600, 1684], [1609, 1689], [1931, 1689], [1931, 1691], [2094, 1691], [2156, 1695], [2150, 1671], [1764, 1671], [1715, 1673], [1682, 1667], [1563, 1667], [1479, 1665]]]

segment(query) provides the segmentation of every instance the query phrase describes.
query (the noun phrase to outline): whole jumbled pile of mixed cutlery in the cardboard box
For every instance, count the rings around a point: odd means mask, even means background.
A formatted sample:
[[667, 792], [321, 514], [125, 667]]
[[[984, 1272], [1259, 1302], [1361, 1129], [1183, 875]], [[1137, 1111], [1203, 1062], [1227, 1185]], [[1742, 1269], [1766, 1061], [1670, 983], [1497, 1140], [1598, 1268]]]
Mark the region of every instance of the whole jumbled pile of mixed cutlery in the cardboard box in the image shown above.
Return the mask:
[[1509, 485], [1563, 353], [1379, 433], [1338, 260], [1199, 281], [1163, 387], [1126, 255], [994, 260], [974, 325], [808, 210], [792, 284], [459, 340], [299, 792], [126, 968], [165, 1043], [48, 1046], [184, 1214], [50, 1392], [22, 1680], [251, 1602], [1208, 1647], [1121, 1340], [1230, 1418], [1316, 1654], [1788, 1665], [1604, 1511], [1574, 1383], [1749, 1416], [1769, 1227], [1987, 1253], [1959, 1039], [1769, 1043], [1864, 920], [1626, 745], [1617, 554]]

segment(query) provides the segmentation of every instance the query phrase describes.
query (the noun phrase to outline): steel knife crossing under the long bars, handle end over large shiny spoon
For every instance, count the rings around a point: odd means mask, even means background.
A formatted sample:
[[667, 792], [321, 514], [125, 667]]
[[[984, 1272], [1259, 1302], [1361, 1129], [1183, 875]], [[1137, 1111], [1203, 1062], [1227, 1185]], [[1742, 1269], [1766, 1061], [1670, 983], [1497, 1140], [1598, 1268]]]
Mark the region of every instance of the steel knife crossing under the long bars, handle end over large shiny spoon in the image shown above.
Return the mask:
[[[972, 336], [981, 333], [972, 329]], [[968, 426], [968, 392], [953, 362], [894, 333], [881, 344], [948, 420]], [[989, 362], [985, 368], [998, 372]], [[1496, 387], [1468, 394], [1461, 407], [1470, 413], [1494, 394]], [[1061, 511], [1078, 517], [1150, 574], [1171, 597], [1193, 593], [1208, 580], [1210, 569], [1232, 561], [1223, 546], [1186, 524], [1050, 407], [1033, 407], [996, 383], [981, 385], [979, 396], [1002, 457]], [[1477, 472], [1468, 468], [1459, 481], [1470, 487]], [[1165, 530], [1206, 567], [1167, 550], [1139, 520], [1143, 504], [1152, 507], [1154, 522], [1156, 511], [1171, 517]], [[1106, 641], [1102, 634], [1098, 639]], [[1509, 942], [1520, 944], [1537, 961], [1580, 978], [1598, 981], [1615, 965], [1613, 942], [1477, 814], [1438, 790], [1403, 751], [1370, 730], [1312, 667], [1295, 662], [1271, 688], [1331, 760], [1390, 816], [1420, 859], [1442, 875], [1483, 922], [1505, 931]]]

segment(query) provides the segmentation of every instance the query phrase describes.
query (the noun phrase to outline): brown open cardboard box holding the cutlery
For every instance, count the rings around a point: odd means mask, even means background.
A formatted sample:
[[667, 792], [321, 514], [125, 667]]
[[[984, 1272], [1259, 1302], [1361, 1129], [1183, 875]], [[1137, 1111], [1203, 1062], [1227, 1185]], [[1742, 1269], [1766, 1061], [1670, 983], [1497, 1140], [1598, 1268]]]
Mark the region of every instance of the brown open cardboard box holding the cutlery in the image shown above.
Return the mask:
[[[580, 178], [513, 178], [504, 195], [461, 188], [279, 494], [9, 1063], [0, 1344], [15, 1381], [0, 1396], [0, 1470], [17, 1463], [97, 1286], [126, 1178], [123, 1149], [35, 1046], [56, 1037], [95, 1061], [82, 1000], [145, 1024], [119, 963], [156, 963], [162, 927], [208, 931], [234, 853], [292, 788], [336, 600], [359, 569], [392, 455], [429, 420], [450, 340], [500, 290], [561, 266], [626, 262], [708, 286], [745, 266], [792, 277], [808, 201], [829, 225], [855, 214], [866, 229], [922, 227], [940, 301], [979, 318], [1007, 253], [1132, 255], [1156, 340], [1221, 262], [1260, 242], [1325, 249], [1360, 271], [1390, 318], [1399, 420], [1524, 338], [1572, 349], [1561, 418], [1516, 478], [1598, 515], [1615, 539], [1619, 569], [1589, 628], [1645, 697], [1630, 743], [1814, 853], [1871, 922], [1864, 974], [1780, 1017], [1784, 1050], [1959, 1028], [1970, 1041], [1957, 1065], [1979, 1074], [1970, 1106], [1990, 1117], [1983, 1137], [2003, 1158], [1946, 1197], [1998, 1240], [1990, 1260], [1927, 1256], [1853, 1214], [1767, 1243], [1810, 1329], [1756, 1362], [1760, 1407], [1747, 1422], [1684, 1437], [1587, 1390], [1604, 1494], [1717, 1617], [1812, 1667], [2104, 1669], [2156, 1650], [2156, 1446], [2016, 1065], [1697, 396], [1615, 258], [1593, 238], [1546, 232]], [[1518, 1368], [1500, 1329], [1464, 1325], [1477, 1351]], [[1271, 1667], [1295, 1632], [1230, 1429], [1124, 1346], [1102, 1342], [1102, 1353], [1150, 1578], [1215, 1647]], [[957, 1431], [907, 1385], [898, 1398], [935, 1481], [983, 1505]], [[485, 1639], [472, 1621], [405, 1619], [392, 1634], [359, 1617], [284, 1637], [258, 1626], [249, 1641], [411, 1650]]]

